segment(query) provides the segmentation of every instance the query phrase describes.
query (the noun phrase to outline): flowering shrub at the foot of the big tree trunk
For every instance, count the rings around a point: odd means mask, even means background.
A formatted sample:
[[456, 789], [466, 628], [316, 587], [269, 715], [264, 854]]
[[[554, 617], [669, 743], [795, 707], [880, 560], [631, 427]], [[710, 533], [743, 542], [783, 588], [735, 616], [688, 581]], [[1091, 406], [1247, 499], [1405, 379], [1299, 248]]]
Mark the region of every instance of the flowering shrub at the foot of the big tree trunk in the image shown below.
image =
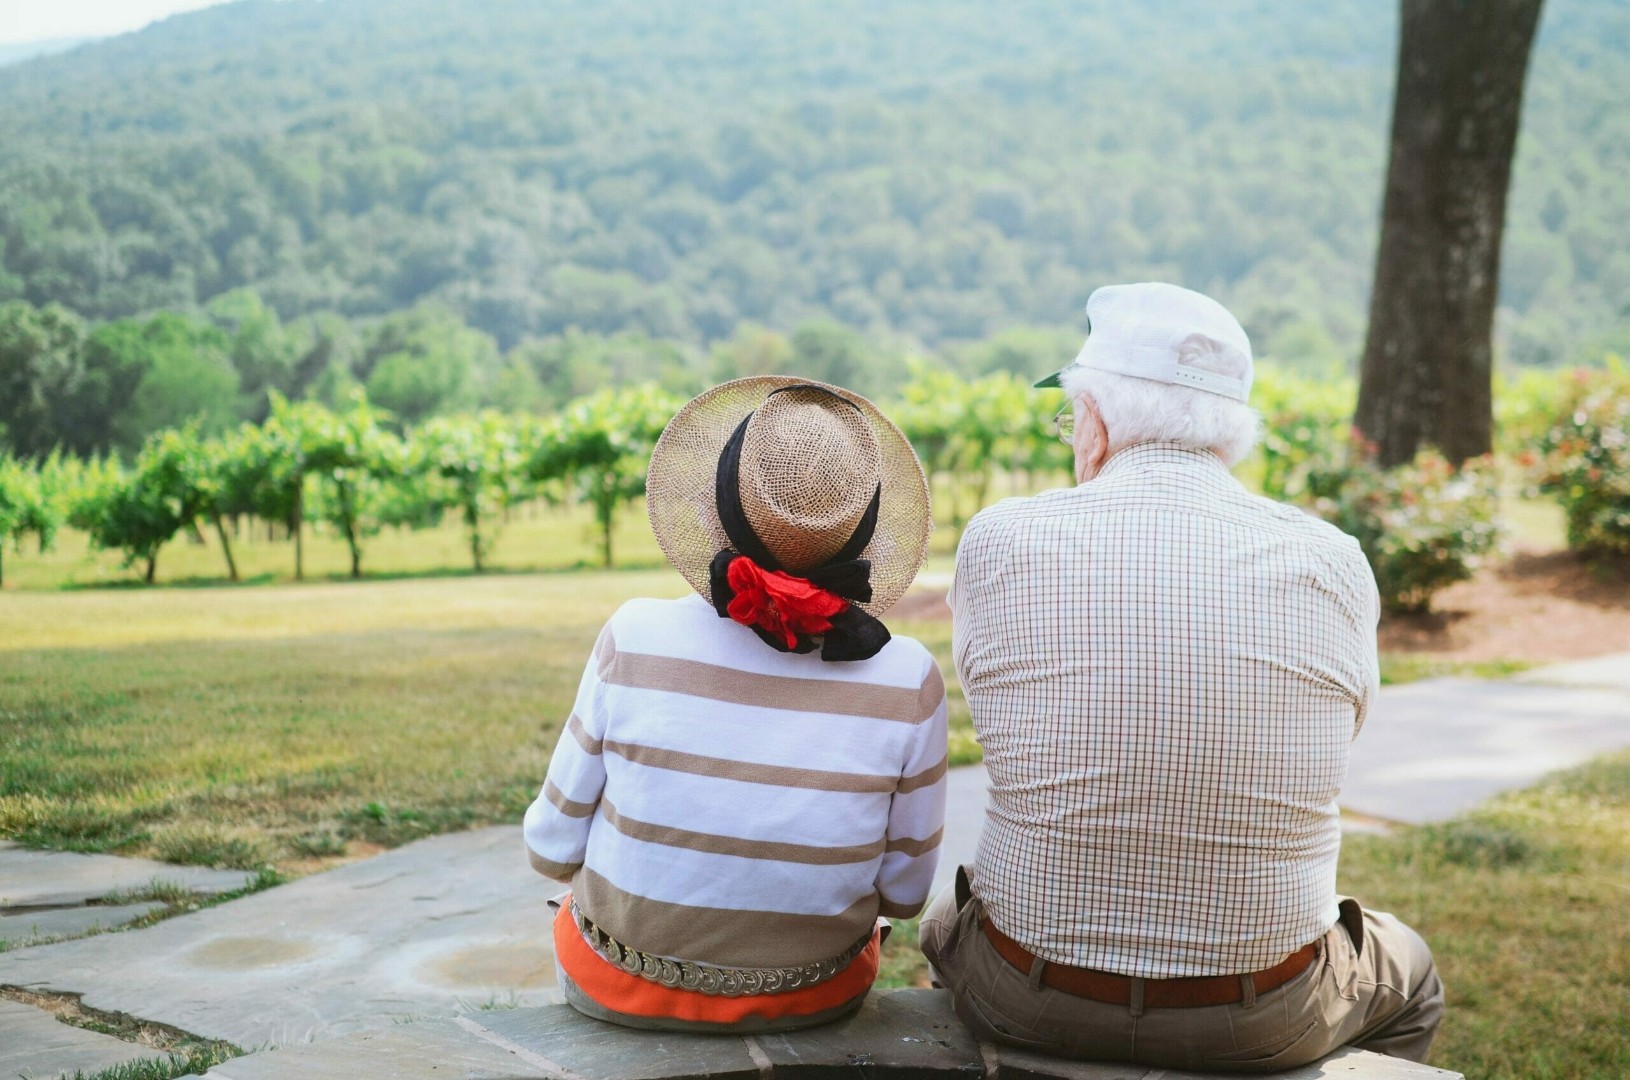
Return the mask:
[[1490, 458], [1460, 469], [1434, 450], [1382, 469], [1356, 432], [1345, 456], [1307, 472], [1312, 508], [1358, 539], [1389, 612], [1428, 611], [1433, 595], [1472, 577], [1498, 541], [1500, 485]]

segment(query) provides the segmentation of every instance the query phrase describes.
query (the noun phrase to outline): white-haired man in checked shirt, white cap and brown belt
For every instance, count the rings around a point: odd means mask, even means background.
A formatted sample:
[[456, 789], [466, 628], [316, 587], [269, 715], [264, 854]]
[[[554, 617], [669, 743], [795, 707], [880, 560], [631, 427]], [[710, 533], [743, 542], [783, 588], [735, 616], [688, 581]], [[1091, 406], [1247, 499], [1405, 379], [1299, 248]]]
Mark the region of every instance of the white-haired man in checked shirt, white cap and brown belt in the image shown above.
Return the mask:
[[1358, 544], [1249, 495], [1250, 342], [1216, 301], [1087, 301], [1060, 437], [1077, 487], [968, 523], [950, 604], [991, 803], [923, 951], [985, 1039], [1260, 1072], [1420, 1060], [1421, 938], [1337, 896], [1337, 795], [1377, 689]]

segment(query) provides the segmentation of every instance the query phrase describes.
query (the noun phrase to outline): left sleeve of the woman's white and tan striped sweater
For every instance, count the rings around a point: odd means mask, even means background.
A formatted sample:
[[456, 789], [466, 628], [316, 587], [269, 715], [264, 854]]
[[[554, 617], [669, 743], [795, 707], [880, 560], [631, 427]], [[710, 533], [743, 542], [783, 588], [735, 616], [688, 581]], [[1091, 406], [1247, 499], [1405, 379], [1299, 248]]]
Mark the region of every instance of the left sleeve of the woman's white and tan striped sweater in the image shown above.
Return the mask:
[[557, 881], [569, 881], [584, 865], [588, 828], [595, 808], [600, 806], [600, 793], [605, 790], [601, 674], [605, 663], [615, 655], [611, 624], [606, 624], [600, 630], [600, 640], [595, 642], [593, 656], [584, 668], [577, 700], [554, 746], [554, 756], [549, 757], [543, 790], [526, 808], [522, 826], [533, 870]]

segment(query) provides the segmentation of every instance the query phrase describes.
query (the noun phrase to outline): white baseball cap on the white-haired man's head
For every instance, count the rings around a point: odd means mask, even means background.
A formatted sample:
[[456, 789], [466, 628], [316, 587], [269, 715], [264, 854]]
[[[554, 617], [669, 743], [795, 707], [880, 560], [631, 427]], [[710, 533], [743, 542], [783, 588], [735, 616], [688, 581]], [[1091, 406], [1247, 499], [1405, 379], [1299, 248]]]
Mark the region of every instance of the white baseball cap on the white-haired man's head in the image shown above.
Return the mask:
[[[1105, 285], [1087, 298], [1087, 340], [1074, 365], [1131, 378], [1250, 397], [1250, 339], [1227, 308], [1209, 296], [1161, 282]], [[1211, 363], [1205, 360], [1211, 358]], [[1240, 378], [1208, 371], [1221, 367]], [[1060, 386], [1069, 368], [1037, 386]]]

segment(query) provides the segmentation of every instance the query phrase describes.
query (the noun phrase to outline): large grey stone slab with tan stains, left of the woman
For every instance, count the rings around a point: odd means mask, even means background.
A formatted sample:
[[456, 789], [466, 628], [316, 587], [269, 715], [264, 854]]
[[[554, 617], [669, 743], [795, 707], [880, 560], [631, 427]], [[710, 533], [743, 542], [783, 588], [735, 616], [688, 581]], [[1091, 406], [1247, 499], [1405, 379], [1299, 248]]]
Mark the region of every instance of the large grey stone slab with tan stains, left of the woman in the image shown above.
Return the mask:
[[0, 986], [238, 1046], [540, 1005], [559, 1000], [553, 893], [517, 826], [438, 836], [142, 930], [0, 953]]

